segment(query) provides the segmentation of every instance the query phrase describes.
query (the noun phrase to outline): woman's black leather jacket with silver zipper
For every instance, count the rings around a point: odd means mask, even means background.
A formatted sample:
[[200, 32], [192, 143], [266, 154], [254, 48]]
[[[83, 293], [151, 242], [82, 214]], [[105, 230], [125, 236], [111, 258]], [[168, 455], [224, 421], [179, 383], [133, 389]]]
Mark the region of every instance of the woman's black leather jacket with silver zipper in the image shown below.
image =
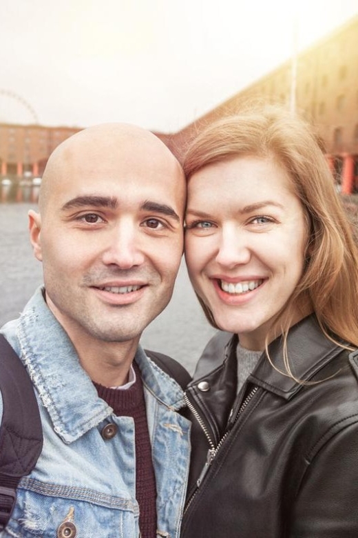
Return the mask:
[[[195, 419], [182, 538], [357, 538], [358, 352], [310, 316], [291, 328], [288, 357], [311, 383], [263, 355], [235, 397], [236, 343], [223, 362], [207, 350], [198, 371], [218, 366], [187, 388]], [[269, 352], [283, 369], [281, 339]]]

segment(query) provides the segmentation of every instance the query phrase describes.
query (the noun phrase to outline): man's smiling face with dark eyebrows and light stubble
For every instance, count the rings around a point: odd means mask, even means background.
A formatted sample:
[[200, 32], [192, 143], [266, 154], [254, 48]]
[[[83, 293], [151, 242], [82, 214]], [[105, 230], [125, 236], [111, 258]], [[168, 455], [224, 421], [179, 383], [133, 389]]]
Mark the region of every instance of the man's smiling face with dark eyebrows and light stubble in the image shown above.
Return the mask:
[[108, 146], [67, 152], [41, 217], [30, 215], [48, 306], [75, 346], [137, 342], [167, 306], [182, 255], [176, 160], [150, 140]]

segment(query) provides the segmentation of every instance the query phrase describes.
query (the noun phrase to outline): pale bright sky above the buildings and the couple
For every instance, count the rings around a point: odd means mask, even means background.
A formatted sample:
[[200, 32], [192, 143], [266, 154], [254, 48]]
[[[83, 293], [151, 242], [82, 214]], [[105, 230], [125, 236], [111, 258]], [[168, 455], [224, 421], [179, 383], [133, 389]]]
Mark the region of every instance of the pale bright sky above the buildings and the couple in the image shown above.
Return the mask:
[[358, 0], [1, 0], [0, 122], [176, 132]]

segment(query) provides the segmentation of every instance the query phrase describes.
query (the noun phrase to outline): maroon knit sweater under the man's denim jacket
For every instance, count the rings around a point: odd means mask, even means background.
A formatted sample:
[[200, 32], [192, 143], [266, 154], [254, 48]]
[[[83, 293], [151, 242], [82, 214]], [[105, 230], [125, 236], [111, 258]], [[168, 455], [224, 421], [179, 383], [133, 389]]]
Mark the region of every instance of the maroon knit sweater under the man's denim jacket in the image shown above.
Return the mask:
[[151, 461], [151, 444], [145, 412], [140, 370], [133, 363], [136, 382], [127, 390], [116, 390], [94, 383], [98, 396], [113, 408], [118, 417], [132, 417], [136, 432], [136, 499], [142, 538], [156, 537], [156, 477]]

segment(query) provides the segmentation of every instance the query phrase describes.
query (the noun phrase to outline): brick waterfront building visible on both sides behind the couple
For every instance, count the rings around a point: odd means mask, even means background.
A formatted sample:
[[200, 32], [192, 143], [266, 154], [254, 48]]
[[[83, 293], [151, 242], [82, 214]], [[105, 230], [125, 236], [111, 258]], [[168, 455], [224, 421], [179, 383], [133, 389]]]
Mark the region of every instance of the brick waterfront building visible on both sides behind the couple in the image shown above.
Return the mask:
[[[173, 134], [156, 133], [179, 160], [207, 123], [248, 102], [292, 106], [309, 119], [326, 148], [343, 193], [358, 192], [358, 16]], [[293, 73], [295, 76], [293, 77]], [[0, 123], [0, 179], [41, 176], [50, 153], [80, 128]]]

